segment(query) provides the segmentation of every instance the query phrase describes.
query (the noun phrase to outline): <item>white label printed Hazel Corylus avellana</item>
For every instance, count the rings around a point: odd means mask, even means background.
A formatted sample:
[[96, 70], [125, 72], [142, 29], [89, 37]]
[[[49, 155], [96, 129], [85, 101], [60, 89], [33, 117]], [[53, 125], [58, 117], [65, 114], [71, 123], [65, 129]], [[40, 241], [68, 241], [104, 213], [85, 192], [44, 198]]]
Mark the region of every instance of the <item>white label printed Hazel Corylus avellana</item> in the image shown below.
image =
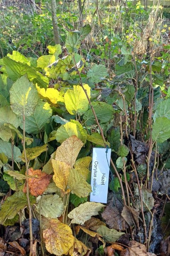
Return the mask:
[[92, 192], [90, 193], [91, 202], [107, 203], [110, 160], [111, 149], [93, 148], [91, 169]]

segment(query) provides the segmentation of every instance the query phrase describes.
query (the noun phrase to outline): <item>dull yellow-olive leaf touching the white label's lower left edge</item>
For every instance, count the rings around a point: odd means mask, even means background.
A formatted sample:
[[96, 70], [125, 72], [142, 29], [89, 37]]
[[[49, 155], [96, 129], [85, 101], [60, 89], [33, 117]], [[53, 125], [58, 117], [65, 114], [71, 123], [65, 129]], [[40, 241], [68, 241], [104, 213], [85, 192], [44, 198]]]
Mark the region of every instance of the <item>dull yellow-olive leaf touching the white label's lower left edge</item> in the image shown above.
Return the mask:
[[78, 197], [86, 197], [89, 195], [91, 185], [87, 183], [85, 178], [77, 171], [77, 169], [71, 168], [68, 177], [68, 186], [73, 194]]

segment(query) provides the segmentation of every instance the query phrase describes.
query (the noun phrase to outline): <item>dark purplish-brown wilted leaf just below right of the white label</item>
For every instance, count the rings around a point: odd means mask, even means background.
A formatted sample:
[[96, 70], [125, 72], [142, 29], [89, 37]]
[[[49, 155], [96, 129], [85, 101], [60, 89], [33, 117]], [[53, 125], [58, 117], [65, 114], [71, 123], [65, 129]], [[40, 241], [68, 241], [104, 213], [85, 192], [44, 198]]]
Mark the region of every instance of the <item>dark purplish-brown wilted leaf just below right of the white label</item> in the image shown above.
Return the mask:
[[125, 230], [128, 228], [128, 224], [125, 219], [121, 216], [118, 208], [115, 206], [107, 206], [102, 213], [102, 218], [106, 221], [109, 228], [117, 230]]

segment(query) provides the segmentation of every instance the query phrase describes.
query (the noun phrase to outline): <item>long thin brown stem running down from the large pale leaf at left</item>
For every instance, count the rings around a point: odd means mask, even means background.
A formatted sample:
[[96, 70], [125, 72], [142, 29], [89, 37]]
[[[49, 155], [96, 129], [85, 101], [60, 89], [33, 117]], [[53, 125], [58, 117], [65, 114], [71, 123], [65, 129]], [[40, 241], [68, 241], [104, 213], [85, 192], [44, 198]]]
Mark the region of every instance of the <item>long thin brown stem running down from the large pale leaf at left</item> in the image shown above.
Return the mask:
[[[23, 151], [24, 151], [24, 158], [26, 161], [26, 175], [28, 175], [28, 161], [26, 155], [26, 138], [25, 138], [25, 116], [23, 112]], [[29, 209], [29, 232], [30, 232], [30, 252], [29, 256], [33, 255], [33, 230], [32, 230], [32, 210], [31, 204], [29, 200], [29, 186], [28, 186], [28, 178], [26, 179], [26, 186], [27, 186], [27, 201], [28, 201], [28, 209]]]

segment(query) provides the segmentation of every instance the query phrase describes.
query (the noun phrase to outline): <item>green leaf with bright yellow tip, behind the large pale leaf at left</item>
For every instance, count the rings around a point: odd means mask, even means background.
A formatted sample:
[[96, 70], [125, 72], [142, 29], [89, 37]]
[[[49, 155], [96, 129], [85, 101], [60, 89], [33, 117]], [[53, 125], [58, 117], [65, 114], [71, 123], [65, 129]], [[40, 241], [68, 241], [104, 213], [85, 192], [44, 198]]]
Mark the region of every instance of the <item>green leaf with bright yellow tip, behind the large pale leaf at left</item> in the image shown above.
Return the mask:
[[[25, 130], [27, 133], [38, 134], [46, 123], [50, 122], [52, 109], [48, 102], [39, 101], [34, 113], [25, 118]], [[21, 125], [23, 128], [23, 124]]]

